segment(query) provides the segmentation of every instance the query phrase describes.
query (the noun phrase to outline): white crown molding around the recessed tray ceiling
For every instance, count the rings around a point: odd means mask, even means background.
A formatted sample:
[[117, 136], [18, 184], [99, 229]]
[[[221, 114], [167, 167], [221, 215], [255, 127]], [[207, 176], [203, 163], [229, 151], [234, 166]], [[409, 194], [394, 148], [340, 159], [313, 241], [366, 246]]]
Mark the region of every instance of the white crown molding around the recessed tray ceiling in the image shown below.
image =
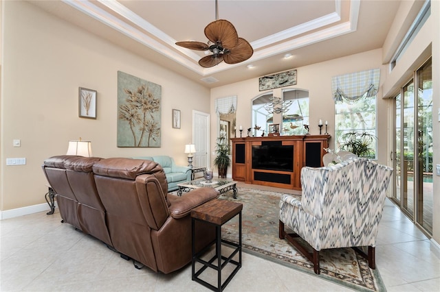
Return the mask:
[[[251, 42], [251, 45], [254, 48], [254, 55], [247, 61], [239, 64], [225, 64], [222, 62], [221, 64], [211, 68], [203, 68], [198, 64], [200, 56], [197, 53], [194, 53], [194, 51], [190, 49], [175, 45], [175, 39], [171, 38], [168, 36], [168, 34], [165, 34], [151, 23], [148, 23], [148, 21], [142, 19], [142, 17], [127, 9], [118, 1], [98, 0], [99, 3], [115, 12], [115, 14], [120, 15], [121, 18], [125, 19], [126, 21], [113, 16], [109, 12], [103, 10], [88, 0], [62, 1], [68, 5], [71, 5], [73, 8], [76, 8], [80, 12], [83, 12], [100, 21], [101, 23], [104, 23], [105, 25], [115, 29], [125, 36], [140, 42], [142, 45], [161, 53], [163, 56], [170, 58], [170, 60], [185, 66], [187, 69], [190, 69], [202, 77], [225, 71], [236, 66], [243, 66], [243, 64], [250, 64], [251, 62], [276, 56], [277, 54], [284, 54], [287, 51], [305, 47], [322, 40], [327, 40], [329, 38], [354, 32], [357, 29], [360, 11], [360, 0], [351, 0], [349, 21], [336, 24], [341, 20], [340, 14], [342, 0], [335, 0], [335, 12], [322, 16], [318, 19], [308, 21], [302, 25], [285, 29], [283, 32], [278, 32], [271, 36]], [[299, 38], [294, 38], [300, 34], [305, 34], [307, 32], [311, 32], [312, 30], [320, 29], [320, 27], [325, 27], [326, 25], [332, 24], [334, 25], [318, 30], [317, 32], [307, 34]], [[140, 29], [135, 28], [135, 26], [140, 27]], [[162, 42], [157, 41], [155, 38], [162, 40]], [[289, 40], [289, 38], [294, 39]], [[273, 43], [278, 43], [278, 45], [272, 45]], [[260, 49], [261, 47], [266, 48]]]

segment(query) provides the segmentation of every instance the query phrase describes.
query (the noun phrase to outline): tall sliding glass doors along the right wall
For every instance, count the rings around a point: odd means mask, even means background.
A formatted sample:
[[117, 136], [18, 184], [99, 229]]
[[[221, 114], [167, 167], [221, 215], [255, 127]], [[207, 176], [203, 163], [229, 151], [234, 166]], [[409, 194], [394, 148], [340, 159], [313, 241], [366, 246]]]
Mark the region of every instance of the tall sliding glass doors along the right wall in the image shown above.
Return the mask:
[[428, 60], [395, 97], [393, 199], [432, 234], [432, 62]]

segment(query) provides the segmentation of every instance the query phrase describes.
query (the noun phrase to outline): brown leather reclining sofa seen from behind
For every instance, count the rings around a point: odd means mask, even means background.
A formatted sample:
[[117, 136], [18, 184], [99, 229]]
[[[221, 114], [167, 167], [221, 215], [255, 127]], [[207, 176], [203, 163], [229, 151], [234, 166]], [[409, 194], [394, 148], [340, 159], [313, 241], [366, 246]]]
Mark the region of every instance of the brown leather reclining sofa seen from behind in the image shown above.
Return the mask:
[[[190, 263], [190, 211], [219, 196], [212, 188], [169, 195], [164, 170], [151, 160], [54, 156], [43, 171], [64, 222], [162, 273]], [[201, 250], [215, 230], [195, 228]]]

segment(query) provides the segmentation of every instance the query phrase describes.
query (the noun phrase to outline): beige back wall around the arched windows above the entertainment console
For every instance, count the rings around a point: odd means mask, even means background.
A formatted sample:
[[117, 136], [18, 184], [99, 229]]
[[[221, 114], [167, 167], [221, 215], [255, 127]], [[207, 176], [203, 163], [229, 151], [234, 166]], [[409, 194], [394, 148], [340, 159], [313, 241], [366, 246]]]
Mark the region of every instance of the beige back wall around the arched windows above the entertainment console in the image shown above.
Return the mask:
[[[382, 50], [380, 49], [296, 68], [297, 84], [285, 88], [309, 90], [310, 134], [319, 134], [318, 121], [322, 119], [322, 121], [329, 121], [328, 132], [331, 136], [334, 136], [335, 106], [331, 96], [331, 77], [375, 68], [381, 69], [381, 75], [385, 70], [385, 67], [382, 66]], [[285, 88], [274, 89], [274, 95], [281, 97], [281, 90]], [[246, 136], [248, 127], [252, 126], [252, 99], [265, 92], [259, 91], [259, 78], [213, 88], [211, 90], [211, 117], [215, 117], [215, 108], [213, 106], [215, 99], [236, 95], [236, 125], [243, 125], [243, 136]], [[381, 93], [378, 96], [382, 97]], [[388, 103], [388, 101], [382, 98], [377, 99], [377, 125], [386, 124]], [[217, 133], [217, 127], [217, 119], [212, 119], [211, 132]], [[379, 143], [378, 161], [386, 164], [387, 128], [379, 126], [377, 130], [377, 141]], [[237, 136], [239, 136], [239, 132], [237, 132]], [[215, 138], [215, 136], [211, 136], [211, 145], [214, 145], [212, 143], [214, 143]], [[330, 147], [334, 149], [333, 139], [330, 141]], [[228, 170], [229, 175], [231, 171], [230, 167]]]

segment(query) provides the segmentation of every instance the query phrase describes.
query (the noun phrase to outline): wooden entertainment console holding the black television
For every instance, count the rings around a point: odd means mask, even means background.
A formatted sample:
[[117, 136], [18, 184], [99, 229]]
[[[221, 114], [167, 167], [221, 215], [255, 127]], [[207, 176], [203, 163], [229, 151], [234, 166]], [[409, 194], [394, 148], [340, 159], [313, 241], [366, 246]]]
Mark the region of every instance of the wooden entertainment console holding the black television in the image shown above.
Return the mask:
[[243, 137], [232, 140], [232, 179], [301, 190], [303, 167], [321, 167], [330, 135]]

